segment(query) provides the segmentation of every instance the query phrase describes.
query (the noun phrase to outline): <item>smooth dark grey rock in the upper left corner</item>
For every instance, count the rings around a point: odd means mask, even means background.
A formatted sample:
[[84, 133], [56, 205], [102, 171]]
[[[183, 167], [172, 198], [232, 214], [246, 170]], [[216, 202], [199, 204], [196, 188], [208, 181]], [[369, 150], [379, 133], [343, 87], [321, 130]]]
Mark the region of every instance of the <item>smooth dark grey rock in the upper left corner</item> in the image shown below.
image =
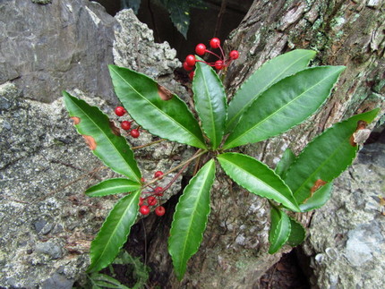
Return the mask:
[[86, 0], [33, 2], [0, 1], [0, 83], [45, 102], [73, 88], [116, 101], [107, 70], [114, 18]]

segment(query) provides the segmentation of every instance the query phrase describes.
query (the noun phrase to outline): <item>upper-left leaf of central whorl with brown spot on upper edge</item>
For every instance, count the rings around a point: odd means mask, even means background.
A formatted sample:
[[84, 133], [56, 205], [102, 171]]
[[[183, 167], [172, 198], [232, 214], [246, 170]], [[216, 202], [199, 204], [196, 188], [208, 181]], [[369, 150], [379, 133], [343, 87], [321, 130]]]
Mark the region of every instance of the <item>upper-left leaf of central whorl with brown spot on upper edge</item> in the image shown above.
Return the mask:
[[108, 67], [116, 95], [135, 122], [163, 139], [206, 149], [199, 123], [183, 100], [144, 74]]

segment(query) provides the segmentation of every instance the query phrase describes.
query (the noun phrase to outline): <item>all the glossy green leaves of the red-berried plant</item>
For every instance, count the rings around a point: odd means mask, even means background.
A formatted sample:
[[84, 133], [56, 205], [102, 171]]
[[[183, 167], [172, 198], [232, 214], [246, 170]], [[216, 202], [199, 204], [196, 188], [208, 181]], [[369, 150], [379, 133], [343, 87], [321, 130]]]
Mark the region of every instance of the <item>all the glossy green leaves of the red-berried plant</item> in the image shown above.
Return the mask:
[[[149, 77], [109, 66], [116, 95], [136, 123], [161, 138], [199, 149], [184, 162], [180, 173], [195, 159], [206, 161], [184, 188], [171, 225], [168, 251], [179, 280], [184, 277], [188, 260], [198, 251], [207, 225], [215, 159], [235, 183], [270, 200], [270, 253], [285, 244], [303, 242], [304, 227], [287, 211], [320, 208], [329, 200], [333, 179], [352, 163], [355, 142], [359, 142], [356, 135], [372, 122], [379, 109], [334, 124], [297, 157], [287, 149], [275, 171], [253, 157], [226, 151], [286, 132], [321, 107], [345, 68], [306, 68], [312, 57], [312, 51], [295, 50], [264, 64], [235, 92], [228, 107], [216, 73], [206, 64], [196, 64], [193, 99], [200, 122], [184, 101]], [[103, 196], [133, 191], [117, 202], [91, 244], [89, 271], [96, 272], [116, 257], [135, 221], [141, 190], [157, 180], [141, 183], [132, 150], [113, 133], [107, 116], [97, 107], [66, 92], [64, 100], [70, 115], [81, 120], [75, 125], [78, 132], [95, 140], [94, 154], [127, 177], [98, 183], [86, 193]]]

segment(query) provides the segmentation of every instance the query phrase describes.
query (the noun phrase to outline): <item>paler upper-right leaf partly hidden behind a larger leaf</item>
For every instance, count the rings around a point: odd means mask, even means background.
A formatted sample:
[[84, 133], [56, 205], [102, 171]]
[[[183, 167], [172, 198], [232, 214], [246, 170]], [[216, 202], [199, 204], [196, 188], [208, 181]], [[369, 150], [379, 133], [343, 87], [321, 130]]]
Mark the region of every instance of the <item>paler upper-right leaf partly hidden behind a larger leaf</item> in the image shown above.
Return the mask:
[[229, 103], [226, 132], [235, 128], [247, 108], [263, 91], [283, 78], [303, 70], [314, 56], [315, 52], [312, 50], [297, 49], [263, 64], [247, 81], [244, 81]]

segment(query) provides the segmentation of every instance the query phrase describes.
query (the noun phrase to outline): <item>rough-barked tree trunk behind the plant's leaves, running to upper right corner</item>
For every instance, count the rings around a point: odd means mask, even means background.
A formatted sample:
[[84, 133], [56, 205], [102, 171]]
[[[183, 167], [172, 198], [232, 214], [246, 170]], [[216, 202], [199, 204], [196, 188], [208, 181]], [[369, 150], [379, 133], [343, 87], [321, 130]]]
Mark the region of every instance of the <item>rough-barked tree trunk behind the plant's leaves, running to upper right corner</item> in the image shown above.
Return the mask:
[[[242, 147], [243, 152], [274, 167], [288, 146], [299, 152], [332, 123], [379, 106], [383, 114], [383, 9], [381, 0], [254, 1], [227, 41], [228, 48], [240, 52], [226, 75], [230, 94], [261, 64], [295, 48], [317, 51], [314, 64], [346, 65], [347, 70], [316, 115], [279, 137]], [[211, 194], [210, 219], [201, 248], [189, 261], [183, 282], [170, 272], [170, 259], [166, 258], [167, 225], [164, 234], [148, 240], [149, 264], [162, 275], [151, 278], [167, 288], [259, 288], [261, 275], [283, 252], [291, 250], [285, 247], [268, 254], [269, 211], [266, 200], [219, 176]], [[312, 213], [297, 215], [307, 225]], [[157, 230], [162, 232], [159, 227]]]

